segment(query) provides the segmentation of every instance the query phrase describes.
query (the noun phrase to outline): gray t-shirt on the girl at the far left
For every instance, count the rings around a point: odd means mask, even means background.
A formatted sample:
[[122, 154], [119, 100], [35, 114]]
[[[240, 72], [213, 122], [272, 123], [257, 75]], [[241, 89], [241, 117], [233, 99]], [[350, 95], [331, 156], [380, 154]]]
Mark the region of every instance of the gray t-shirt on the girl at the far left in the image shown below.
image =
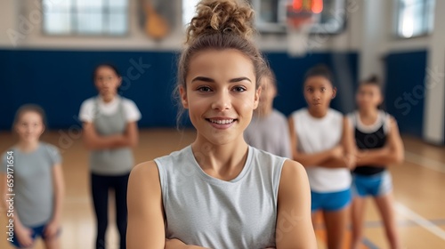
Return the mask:
[[[59, 149], [40, 142], [32, 152], [25, 153], [17, 148], [7, 151], [13, 151], [13, 164], [8, 164], [9, 155], [5, 152], [0, 173], [13, 175], [14, 211], [27, 227], [43, 225], [53, 216], [53, 166], [61, 163]], [[9, 166], [9, 171], [8, 165], [13, 165]]]

